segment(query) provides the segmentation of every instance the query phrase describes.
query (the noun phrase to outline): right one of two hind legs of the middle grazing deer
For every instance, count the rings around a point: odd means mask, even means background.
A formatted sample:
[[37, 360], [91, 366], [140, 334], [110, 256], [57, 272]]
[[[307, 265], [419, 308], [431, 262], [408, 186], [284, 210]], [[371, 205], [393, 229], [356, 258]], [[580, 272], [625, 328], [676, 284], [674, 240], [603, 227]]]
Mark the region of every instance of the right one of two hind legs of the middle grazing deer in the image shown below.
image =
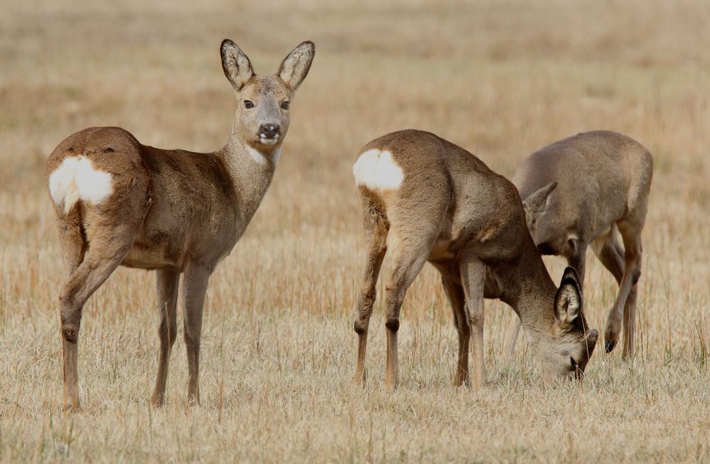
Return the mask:
[[387, 282], [387, 321], [384, 326], [387, 328], [387, 368], [384, 374], [384, 387], [393, 391], [397, 388], [399, 381], [399, 364], [397, 363], [397, 331], [399, 331], [399, 310], [402, 309], [404, 295], [414, 277], [419, 274], [424, 267], [431, 248], [434, 245], [434, 234], [420, 235], [422, 231], [417, 231], [419, 237], [411, 237], [409, 240], [402, 240], [400, 231], [394, 234], [397, 236], [397, 247], [394, 251], [394, 268]]

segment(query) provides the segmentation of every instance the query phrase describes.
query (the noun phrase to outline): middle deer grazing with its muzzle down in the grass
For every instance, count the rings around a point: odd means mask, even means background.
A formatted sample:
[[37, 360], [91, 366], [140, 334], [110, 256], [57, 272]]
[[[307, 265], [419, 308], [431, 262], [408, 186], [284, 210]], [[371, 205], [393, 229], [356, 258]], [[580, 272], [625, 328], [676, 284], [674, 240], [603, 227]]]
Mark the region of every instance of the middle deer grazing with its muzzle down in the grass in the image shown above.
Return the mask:
[[367, 251], [357, 300], [354, 381], [365, 382], [365, 348], [375, 285], [388, 249], [385, 386], [397, 385], [397, 331], [404, 294], [428, 260], [441, 273], [458, 331], [456, 385], [483, 384], [483, 298], [520, 316], [544, 377], [580, 376], [596, 344], [582, 312], [579, 278], [569, 268], [559, 289], [525, 226], [515, 186], [463, 148], [431, 133], [400, 131], [372, 140], [353, 166]]

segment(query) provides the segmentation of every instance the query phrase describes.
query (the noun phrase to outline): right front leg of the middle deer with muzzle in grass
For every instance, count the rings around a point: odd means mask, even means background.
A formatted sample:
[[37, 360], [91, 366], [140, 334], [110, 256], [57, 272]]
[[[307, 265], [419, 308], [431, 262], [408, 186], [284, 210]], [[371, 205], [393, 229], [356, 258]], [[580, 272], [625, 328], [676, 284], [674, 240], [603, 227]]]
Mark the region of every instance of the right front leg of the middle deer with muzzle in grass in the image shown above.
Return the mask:
[[472, 255], [461, 259], [461, 281], [468, 306], [468, 325], [473, 346], [473, 387], [485, 382], [483, 364], [483, 290], [485, 288], [485, 264]]

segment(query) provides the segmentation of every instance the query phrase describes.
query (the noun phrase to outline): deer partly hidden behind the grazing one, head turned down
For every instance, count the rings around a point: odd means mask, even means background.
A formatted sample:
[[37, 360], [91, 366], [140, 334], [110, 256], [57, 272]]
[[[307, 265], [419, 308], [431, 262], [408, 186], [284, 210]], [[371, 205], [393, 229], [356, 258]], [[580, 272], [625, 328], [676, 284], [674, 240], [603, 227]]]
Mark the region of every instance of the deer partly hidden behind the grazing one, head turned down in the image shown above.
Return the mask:
[[[541, 148], [522, 162], [512, 180], [541, 253], [567, 258], [583, 282], [591, 245], [616, 279], [619, 291], [609, 311], [604, 344], [610, 353], [619, 340], [623, 316], [625, 359], [633, 358], [641, 231], [652, 174], [651, 155], [640, 143], [619, 133], [594, 131]], [[518, 331], [520, 321], [509, 354]]]

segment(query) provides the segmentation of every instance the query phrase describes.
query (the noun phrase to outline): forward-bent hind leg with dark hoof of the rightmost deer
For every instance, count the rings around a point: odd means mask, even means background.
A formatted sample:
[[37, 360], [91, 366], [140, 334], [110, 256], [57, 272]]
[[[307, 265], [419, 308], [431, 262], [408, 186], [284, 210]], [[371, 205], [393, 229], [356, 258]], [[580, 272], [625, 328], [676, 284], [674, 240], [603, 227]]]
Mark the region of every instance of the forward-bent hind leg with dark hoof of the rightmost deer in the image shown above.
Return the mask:
[[[604, 341], [607, 353], [611, 353], [611, 350], [614, 349], [619, 340], [619, 333], [621, 331], [625, 307], [627, 305], [631, 290], [635, 283], [638, 282], [641, 272], [641, 238], [635, 232], [638, 228], [634, 228], [633, 226], [623, 222], [618, 224], [618, 228], [624, 241], [624, 273], [621, 278], [619, 292], [616, 295], [614, 306], [611, 311], [609, 311], [606, 329], [604, 331]], [[629, 328], [630, 334], [633, 338], [634, 328], [632, 326], [629, 326]]]

